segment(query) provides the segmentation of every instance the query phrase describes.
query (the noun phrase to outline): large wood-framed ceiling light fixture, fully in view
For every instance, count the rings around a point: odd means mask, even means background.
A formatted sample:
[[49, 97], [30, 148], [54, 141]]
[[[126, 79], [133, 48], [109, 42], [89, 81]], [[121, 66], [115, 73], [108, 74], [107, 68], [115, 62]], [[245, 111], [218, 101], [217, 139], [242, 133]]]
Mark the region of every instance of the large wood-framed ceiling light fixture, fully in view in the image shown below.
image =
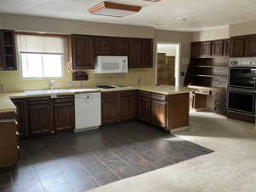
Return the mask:
[[125, 17], [137, 13], [142, 9], [140, 6], [126, 5], [111, 2], [102, 2], [88, 9], [90, 14], [112, 17]]

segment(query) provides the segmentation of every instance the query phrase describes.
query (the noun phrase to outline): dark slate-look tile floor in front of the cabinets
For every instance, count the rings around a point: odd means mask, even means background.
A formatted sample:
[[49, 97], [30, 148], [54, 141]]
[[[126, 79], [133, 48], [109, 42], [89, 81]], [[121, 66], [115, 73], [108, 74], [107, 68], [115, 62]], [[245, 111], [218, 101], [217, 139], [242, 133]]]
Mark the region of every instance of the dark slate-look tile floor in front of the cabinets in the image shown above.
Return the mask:
[[0, 174], [0, 191], [82, 192], [211, 152], [137, 121], [32, 137], [15, 172]]

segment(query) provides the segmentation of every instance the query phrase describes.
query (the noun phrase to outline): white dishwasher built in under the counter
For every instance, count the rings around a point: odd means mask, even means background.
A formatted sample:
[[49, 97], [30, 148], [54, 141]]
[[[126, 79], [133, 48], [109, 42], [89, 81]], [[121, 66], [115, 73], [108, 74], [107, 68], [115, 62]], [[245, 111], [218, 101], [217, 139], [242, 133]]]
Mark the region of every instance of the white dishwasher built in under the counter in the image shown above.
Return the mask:
[[98, 129], [102, 124], [101, 93], [75, 94], [75, 131]]

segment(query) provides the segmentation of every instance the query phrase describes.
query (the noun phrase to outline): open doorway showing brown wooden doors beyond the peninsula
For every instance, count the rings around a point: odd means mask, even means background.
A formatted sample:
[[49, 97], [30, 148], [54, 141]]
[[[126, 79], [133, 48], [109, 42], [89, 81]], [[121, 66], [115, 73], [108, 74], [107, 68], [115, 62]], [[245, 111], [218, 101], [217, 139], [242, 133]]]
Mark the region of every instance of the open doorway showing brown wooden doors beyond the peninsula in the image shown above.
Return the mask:
[[157, 43], [157, 84], [179, 86], [179, 44]]

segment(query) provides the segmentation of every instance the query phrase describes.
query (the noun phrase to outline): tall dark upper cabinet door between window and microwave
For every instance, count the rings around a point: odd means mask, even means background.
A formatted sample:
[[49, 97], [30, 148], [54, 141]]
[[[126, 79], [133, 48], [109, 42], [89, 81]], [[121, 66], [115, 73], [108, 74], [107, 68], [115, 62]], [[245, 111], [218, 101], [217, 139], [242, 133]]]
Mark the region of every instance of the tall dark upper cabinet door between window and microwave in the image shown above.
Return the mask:
[[95, 68], [93, 38], [84, 35], [72, 35], [73, 69]]

